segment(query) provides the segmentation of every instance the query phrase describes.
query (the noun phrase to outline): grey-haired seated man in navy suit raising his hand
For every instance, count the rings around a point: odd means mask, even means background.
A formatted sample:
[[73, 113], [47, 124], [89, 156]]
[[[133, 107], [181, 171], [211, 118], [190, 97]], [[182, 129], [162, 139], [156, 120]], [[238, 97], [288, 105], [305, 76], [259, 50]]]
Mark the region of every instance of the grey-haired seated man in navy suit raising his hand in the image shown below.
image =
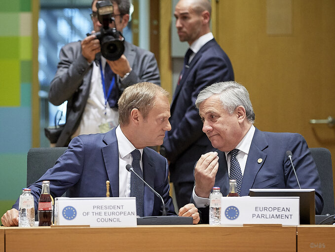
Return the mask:
[[[220, 186], [229, 192], [229, 179], [237, 180], [240, 196], [250, 188], [315, 189], [315, 212], [323, 209], [321, 181], [304, 138], [297, 133], [262, 132], [253, 125], [255, 113], [246, 88], [234, 81], [215, 83], [202, 90], [195, 102], [206, 133], [215, 150], [202, 155], [194, 169], [192, 201], [208, 222], [209, 195]], [[200, 209], [199, 209], [200, 210]]]

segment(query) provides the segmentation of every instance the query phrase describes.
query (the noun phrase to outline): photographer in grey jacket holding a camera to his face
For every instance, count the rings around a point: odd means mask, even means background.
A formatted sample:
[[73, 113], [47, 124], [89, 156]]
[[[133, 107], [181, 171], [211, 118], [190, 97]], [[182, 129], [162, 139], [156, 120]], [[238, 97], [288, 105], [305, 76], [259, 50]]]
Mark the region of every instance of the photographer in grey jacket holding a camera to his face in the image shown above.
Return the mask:
[[[67, 146], [81, 134], [107, 132], [118, 124], [117, 100], [132, 84], [147, 81], [160, 85], [160, 77], [153, 53], [123, 41], [124, 53], [117, 60], [101, 56], [97, 0], [92, 2], [94, 31], [82, 41], [62, 47], [57, 72], [50, 84], [49, 101], [59, 106], [67, 104], [66, 124], [56, 146]], [[99, 1], [108, 3], [109, 0]], [[121, 32], [129, 21], [129, 0], [112, 0], [110, 28]], [[120, 37], [122, 39], [122, 37]]]

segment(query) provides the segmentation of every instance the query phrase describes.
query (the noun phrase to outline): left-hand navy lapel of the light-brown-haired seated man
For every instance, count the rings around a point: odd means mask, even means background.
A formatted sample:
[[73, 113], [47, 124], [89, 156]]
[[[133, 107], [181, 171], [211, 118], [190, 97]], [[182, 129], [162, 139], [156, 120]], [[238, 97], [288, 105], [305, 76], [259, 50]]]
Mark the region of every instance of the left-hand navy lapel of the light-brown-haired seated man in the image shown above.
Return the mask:
[[115, 129], [107, 132], [103, 141], [107, 144], [102, 147], [102, 154], [104, 157], [105, 167], [110, 180], [112, 197], [119, 196], [119, 159], [118, 159], [118, 145], [115, 134]]

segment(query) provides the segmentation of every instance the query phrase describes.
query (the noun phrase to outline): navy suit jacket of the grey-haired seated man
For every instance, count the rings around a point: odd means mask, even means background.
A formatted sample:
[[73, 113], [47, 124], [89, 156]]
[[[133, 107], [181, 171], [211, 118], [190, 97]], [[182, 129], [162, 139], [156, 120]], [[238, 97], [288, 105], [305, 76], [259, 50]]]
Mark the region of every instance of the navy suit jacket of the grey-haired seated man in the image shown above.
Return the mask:
[[[286, 151], [293, 153], [297, 177], [301, 188], [315, 189], [315, 213], [323, 209], [319, 173], [304, 138], [297, 133], [272, 133], [255, 131], [243, 174], [240, 196], [249, 195], [250, 188], [299, 188]], [[215, 186], [220, 186], [223, 196], [229, 193], [229, 177], [224, 152], [219, 153], [219, 170]], [[261, 163], [258, 162], [262, 159]], [[200, 209], [202, 220], [208, 223], [208, 208]]]

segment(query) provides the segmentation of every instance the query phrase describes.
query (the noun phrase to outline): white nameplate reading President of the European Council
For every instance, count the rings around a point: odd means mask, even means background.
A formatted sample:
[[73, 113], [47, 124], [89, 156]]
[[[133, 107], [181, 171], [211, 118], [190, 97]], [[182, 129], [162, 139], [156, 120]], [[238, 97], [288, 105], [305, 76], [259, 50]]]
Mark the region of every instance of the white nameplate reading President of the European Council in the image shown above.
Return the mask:
[[55, 225], [136, 226], [136, 200], [59, 197], [55, 199]]

